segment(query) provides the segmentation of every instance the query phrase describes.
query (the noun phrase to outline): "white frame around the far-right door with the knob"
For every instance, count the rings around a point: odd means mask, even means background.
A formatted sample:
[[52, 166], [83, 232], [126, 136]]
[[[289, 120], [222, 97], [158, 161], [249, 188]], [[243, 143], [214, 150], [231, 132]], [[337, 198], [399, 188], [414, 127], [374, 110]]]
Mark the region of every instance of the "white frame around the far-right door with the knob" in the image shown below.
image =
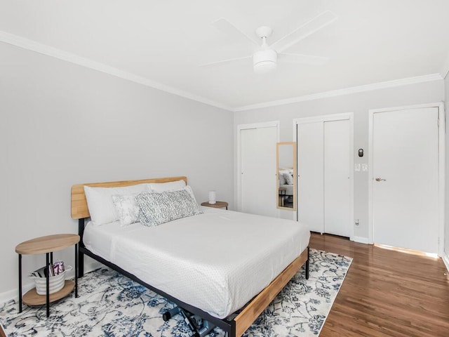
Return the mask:
[[374, 244], [373, 222], [373, 127], [374, 115], [380, 112], [394, 112], [398, 110], [421, 109], [436, 107], [438, 109], [438, 256], [444, 253], [444, 221], [445, 221], [445, 113], [443, 102], [401, 107], [387, 107], [369, 110], [368, 117], [368, 243]]

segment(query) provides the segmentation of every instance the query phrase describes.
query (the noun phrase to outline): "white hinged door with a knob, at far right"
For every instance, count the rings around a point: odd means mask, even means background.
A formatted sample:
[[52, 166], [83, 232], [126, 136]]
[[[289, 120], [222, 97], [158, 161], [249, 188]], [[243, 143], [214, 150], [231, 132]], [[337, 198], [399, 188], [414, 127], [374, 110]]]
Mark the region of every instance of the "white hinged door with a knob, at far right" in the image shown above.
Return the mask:
[[373, 114], [373, 239], [438, 252], [438, 108]]

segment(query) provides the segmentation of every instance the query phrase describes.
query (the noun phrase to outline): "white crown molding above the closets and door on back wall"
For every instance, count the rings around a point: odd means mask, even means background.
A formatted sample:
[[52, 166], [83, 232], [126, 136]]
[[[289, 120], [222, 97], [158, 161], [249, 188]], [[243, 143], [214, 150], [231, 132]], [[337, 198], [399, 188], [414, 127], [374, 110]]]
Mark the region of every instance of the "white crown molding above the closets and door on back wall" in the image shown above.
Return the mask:
[[311, 95], [287, 98], [285, 100], [273, 100], [271, 102], [266, 102], [266, 103], [245, 105], [245, 106], [241, 106], [241, 107], [236, 107], [234, 109], [234, 112], [261, 109], [263, 107], [274, 107], [276, 105], [286, 105], [286, 104], [291, 104], [291, 103], [304, 102], [307, 100], [319, 100], [322, 98], [330, 98], [330, 97], [341, 96], [341, 95], [349, 95], [351, 93], [362, 93], [364, 91], [373, 91], [373, 90], [384, 89], [384, 88], [392, 88], [395, 86], [406, 86], [408, 84], [417, 84], [417, 83], [422, 83], [422, 82], [437, 81], [437, 80], [441, 80], [441, 79], [443, 79], [443, 77], [441, 77], [441, 74], [428, 74], [428, 75], [417, 76], [417, 77], [408, 77], [406, 79], [395, 79], [393, 81], [384, 81], [384, 82], [379, 82], [379, 83], [374, 83], [374, 84], [366, 84], [363, 86], [353, 86], [351, 88], [344, 88], [344, 89], [339, 89], [339, 90], [334, 90], [334, 91], [324, 91], [323, 93], [314, 93]]

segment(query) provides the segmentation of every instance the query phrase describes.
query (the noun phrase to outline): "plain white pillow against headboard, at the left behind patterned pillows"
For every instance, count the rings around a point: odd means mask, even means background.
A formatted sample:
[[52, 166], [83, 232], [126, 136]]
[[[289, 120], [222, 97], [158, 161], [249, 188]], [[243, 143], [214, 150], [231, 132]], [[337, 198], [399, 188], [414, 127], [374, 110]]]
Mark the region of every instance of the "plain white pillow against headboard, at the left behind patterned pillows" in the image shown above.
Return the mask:
[[87, 205], [93, 225], [103, 225], [119, 220], [114, 207], [112, 196], [114, 194], [135, 194], [149, 191], [147, 184], [131, 185], [125, 187], [89, 187], [84, 186]]

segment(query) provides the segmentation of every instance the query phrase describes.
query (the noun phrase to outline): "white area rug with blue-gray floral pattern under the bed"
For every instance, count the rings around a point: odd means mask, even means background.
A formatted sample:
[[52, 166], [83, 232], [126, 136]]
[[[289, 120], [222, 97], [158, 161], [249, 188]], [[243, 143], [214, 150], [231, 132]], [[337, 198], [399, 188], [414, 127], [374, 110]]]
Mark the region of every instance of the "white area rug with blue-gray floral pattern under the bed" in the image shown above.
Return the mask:
[[[342, 285], [351, 258], [310, 250], [310, 277], [304, 267], [290, 280], [243, 336], [318, 336]], [[11, 300], [0, 305], [0, 322], [15, 336], [142, 336], [189, 337], [192, 331], [180, 315], [164, 322], [173, 308], [165, 298], [123, 275], [102, 267], [79, 279], [79, 298], [69, 296], [30, 308]], [[215, 329], [210, 337], [225, 333]]]

